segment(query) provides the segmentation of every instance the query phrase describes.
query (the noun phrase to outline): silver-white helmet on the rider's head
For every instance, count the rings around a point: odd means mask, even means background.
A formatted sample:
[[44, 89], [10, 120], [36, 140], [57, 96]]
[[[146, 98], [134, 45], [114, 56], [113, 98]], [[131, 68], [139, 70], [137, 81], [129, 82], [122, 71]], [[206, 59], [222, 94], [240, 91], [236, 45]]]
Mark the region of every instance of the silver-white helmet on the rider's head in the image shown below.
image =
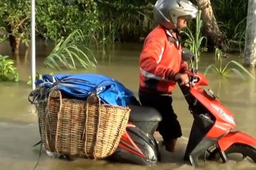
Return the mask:
[[154, 21], [164, 28], [177, 29], [179, 16], [196, 18], [198, 8], [188, 0], [158, 0], [154, 6]]

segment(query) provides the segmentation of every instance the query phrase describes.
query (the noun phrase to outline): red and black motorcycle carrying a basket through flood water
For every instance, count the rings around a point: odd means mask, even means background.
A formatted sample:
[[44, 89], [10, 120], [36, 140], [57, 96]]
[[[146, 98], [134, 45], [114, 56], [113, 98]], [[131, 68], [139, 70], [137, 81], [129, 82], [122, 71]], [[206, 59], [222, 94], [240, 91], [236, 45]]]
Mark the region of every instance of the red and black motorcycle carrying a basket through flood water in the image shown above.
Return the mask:
[[[256, 139], [235, 128], [234, 115], [223, 106], [218, 97], [201, 86], [208, 86], [206, 77], [193, 68], [194, 55], [183, 50], [182, 59], [191, 61], [192, 68], [186, 74], [190, 86], [180, 86], [188, 102], [188, 110], [193, 115], [193, 125], [186, 147], [185, 160], [198, 166], [198, 158], [228, 161], [228, 155], [240, 154], [242, 159], [256, 162]], [[134, 164], [154, 164], [159, 161], [159, 153], [154, 132], [161, 121], [161, 115], [154, 108], [129, 106], [131, 113], [126, 132], [122, 136], [112, 158]]]

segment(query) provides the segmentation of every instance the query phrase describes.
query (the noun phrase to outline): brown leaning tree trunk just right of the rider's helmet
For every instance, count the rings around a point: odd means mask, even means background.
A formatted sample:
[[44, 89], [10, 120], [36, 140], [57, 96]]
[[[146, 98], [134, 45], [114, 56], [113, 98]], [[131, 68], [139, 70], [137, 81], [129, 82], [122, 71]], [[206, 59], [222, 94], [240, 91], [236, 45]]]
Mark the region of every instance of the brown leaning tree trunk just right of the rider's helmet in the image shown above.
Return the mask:
[[223, 51], [228, 50], [226, 36], [218, 28], [210, 0], [196, 0], [203, 17], [203, 35], [208, 39], [210, 47], [218, 47]]

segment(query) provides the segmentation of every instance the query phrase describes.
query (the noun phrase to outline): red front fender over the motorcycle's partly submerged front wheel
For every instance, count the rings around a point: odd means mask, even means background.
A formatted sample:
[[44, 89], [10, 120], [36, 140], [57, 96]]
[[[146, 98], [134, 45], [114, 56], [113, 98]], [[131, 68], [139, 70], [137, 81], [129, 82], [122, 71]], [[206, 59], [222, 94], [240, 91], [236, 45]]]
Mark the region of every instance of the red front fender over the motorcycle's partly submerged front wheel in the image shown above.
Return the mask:
[[256, 139], [254, 137], [239, 131], [229, 132], [228, 135], [225, 135], [224, 137], [220, 138], [220, 140], [218, 140], [218, 145], [221, 151], [225, 151], [228, 149], [228, 147], [235, 143], [256, 147]]

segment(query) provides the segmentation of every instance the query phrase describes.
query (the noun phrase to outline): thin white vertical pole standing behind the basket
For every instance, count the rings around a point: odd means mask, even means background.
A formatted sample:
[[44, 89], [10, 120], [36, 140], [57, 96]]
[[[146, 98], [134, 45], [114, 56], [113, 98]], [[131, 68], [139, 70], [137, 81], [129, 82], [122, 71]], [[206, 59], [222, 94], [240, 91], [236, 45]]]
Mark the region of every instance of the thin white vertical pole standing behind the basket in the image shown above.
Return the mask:
[[31, 0], [31, 69], [32, 69], [32, 89], [36, 89], [36, 4]]

